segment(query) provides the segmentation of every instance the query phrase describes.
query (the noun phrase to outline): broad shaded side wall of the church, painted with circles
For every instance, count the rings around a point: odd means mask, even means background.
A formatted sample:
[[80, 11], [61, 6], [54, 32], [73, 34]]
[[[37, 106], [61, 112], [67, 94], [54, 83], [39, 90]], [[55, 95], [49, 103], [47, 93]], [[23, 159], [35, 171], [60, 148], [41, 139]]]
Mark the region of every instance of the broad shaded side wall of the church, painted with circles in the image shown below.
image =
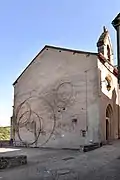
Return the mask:
[[95, 54], [46, 48], [14, 85], [15, 140], [60, 148], [98, 142], [98, 86]]

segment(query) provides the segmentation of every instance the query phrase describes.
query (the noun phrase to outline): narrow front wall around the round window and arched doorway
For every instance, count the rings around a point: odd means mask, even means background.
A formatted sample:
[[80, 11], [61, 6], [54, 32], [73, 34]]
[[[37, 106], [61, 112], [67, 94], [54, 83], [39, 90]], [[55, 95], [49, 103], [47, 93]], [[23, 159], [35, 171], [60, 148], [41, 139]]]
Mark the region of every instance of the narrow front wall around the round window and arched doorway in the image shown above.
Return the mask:
[[[106, 110], [107, 107], [111, 107], [112, 118], [110, 121], [110, 139], [118, 138], [118, 83], [117, 78], [112, 73], [113, 67], [107, 62], [103, 65], [98, 60], [98, 71], [99, 71], [99, 97], [100, 97], [100, 122], [101, 122], [101, 140], [106, 141]], [[111, 89], [107, 90], [106, 77], [110, 76]]]

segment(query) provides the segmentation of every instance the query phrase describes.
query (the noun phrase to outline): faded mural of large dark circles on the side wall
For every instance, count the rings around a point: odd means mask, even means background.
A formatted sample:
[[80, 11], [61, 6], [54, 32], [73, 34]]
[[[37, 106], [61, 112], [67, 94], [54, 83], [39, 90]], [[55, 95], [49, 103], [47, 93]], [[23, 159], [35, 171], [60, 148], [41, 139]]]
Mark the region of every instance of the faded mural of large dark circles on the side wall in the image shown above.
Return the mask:
[[74, 129], [77, 124], [76, 116], [71, 123], [61, 122], [63, 114], [75, 103], [74, 86], [71, 82], [59, 83], [44, 95], [32, 92], [23, 98], [15, 110], [15, 129], [21, 142], [37, 146], [39, 139], [42, 146], [52, 136]]

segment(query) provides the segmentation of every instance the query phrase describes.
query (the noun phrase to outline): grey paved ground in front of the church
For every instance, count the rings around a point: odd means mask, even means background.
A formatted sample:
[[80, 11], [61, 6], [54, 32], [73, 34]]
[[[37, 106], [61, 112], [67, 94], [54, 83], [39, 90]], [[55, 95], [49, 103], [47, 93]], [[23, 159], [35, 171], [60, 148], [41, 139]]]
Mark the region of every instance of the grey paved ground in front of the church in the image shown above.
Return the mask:
[[120, 141], [88, 153], [25, 148], [0, 151], [0, 155], [28, 156], [28, 165], [0, 171], [3, 180], [120, 180]]

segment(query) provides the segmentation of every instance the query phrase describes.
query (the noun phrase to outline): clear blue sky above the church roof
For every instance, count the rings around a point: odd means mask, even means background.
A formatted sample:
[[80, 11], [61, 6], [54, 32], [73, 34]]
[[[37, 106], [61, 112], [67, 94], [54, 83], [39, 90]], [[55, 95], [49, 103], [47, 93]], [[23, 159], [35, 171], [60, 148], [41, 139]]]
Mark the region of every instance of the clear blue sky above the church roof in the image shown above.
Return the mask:
[[119, 11], [120, 0], [0, 1], [0, 125], [12, 115], [12, 83], [45, 44], [96, 51], [106, 25], [116, 53]]

